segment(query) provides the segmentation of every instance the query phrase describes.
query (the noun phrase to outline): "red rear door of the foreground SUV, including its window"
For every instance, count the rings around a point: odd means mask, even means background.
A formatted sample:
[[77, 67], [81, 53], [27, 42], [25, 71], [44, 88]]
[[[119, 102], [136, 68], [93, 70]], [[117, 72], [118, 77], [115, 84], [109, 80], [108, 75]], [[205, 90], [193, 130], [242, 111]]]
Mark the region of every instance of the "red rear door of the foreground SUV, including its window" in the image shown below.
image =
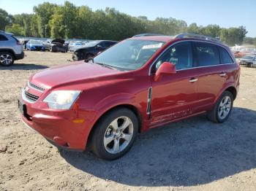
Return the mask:
[[[213, 106], [217, 95], [230, 77], [230, 63], [227, 50], [210, 42], [193, 42], [193, 62], [197, 67], [198, 87], [196, 112], [207, 111]], [[233, 68], [233, 67], [232, 67]]]

